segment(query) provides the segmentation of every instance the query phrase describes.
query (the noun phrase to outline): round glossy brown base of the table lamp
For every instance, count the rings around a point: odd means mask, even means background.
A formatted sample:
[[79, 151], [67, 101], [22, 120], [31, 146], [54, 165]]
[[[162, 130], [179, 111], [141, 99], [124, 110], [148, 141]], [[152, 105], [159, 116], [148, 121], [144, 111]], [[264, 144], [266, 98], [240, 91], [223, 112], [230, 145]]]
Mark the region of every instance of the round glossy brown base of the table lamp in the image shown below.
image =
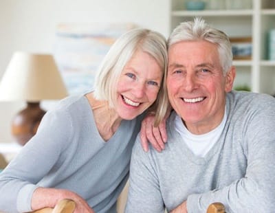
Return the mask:
[[17, 143], [24, 146], [35, 135], [45, 113], [39, 102], [27, 102], [27, 107], [19, 111], [12, 121], [12, 135]]

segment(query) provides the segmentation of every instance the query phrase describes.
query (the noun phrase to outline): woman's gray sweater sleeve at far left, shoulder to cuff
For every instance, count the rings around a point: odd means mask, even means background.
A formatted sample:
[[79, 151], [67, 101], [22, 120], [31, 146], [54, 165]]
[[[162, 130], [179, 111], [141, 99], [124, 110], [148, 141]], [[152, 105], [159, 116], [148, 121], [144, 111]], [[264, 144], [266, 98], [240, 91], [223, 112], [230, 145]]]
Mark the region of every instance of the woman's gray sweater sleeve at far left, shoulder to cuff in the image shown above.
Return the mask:
[[[0, 173], [0, 210], [30, 212], [32, 193], [56, 163], [72, 124], [66, 113], [46, 113], [39, 130]], [[61, 133], [63, 131], [63, 134]], [[66, 133], [67, 131], [67, 133]], [[50, 155], [49, 155], [50, 153]]]

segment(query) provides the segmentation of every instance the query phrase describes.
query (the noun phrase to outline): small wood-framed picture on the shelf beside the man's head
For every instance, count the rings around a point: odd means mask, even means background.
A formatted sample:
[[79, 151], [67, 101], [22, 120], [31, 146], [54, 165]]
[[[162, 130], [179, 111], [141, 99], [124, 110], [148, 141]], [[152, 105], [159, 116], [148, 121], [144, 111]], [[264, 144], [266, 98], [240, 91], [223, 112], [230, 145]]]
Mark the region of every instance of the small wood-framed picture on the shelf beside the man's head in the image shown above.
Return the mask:
[[252, 59], [252, 37], [229, 38], [232, 45], [233, 60]]

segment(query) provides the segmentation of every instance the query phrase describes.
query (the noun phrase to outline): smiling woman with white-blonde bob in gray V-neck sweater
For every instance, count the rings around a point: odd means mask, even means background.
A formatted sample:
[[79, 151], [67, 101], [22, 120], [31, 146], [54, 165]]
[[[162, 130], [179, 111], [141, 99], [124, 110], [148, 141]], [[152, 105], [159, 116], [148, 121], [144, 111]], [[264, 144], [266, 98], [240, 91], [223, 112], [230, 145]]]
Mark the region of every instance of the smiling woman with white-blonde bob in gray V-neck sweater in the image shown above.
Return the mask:
[[[0, 210], [30, 212], [73, 199], [75, 212], [116, 212], [140, 122], [166, 113], [166, 39], [136, 29], [113, 44], [94, 91], [62, 100], [0, 175]], [[162, 107], [164, 106], [164, 107]]]

